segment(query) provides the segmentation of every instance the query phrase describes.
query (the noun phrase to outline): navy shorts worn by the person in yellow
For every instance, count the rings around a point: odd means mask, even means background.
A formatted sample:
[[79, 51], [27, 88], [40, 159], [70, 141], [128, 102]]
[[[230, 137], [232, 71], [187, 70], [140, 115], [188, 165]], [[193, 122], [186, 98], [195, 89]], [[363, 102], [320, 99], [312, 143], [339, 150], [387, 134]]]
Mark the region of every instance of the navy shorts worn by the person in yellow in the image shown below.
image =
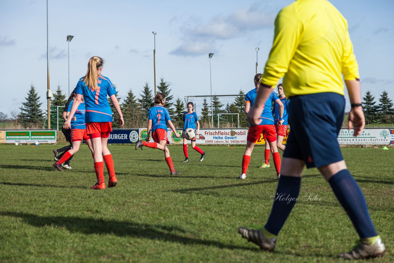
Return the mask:
[[324, 92], [294, 96], [290, 101], [290, 133], [283, 157], [303, 160], [307, 168], [343, 160], [337, 137], [344, 118], [344, 96]]

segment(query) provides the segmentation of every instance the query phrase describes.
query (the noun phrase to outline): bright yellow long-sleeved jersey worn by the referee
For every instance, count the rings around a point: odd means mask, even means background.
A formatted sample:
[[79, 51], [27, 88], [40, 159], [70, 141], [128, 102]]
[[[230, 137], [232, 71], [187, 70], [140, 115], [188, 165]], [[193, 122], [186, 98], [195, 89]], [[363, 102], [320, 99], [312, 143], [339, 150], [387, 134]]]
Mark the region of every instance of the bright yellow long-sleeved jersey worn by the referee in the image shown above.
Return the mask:
[[359, 80], [348, 22], [327, 0], [297, 0], [275, 19], [273, 46], [261, 82], [283, 77], [287, 97], [321, 92], [344, 95], [344, 80]]

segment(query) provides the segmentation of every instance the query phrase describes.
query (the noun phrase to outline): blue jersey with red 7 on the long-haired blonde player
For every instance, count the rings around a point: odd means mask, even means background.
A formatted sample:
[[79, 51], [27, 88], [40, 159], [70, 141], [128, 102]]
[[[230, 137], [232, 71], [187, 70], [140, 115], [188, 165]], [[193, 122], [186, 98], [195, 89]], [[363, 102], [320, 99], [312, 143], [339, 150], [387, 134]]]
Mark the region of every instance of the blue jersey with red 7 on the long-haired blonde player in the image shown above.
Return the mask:
[[86, 106], [86, 122], [112, 122], [112, 111], [107, 100], [107, 95], [116, 93], [115, 88], [109, 78], [99, 76], [97, 89], [85, 86], [85, 82], [80, 78], [75, 88], [75, 93], [84, 95]]

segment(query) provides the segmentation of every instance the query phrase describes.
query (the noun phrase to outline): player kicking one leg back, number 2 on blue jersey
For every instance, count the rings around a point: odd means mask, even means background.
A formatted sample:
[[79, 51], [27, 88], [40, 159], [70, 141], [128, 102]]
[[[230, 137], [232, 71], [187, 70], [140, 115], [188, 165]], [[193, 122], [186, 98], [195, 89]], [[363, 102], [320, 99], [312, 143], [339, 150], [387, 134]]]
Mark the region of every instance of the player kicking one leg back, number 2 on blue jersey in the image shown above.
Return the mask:
[[[137, 142], [136, 150], [141, 148], [142, 146], [146, 146], [149, 148], [160, 149], [164, 151], [164, 158], [167, 162], [168, 167], [170, 168], [170, 175], [180, 175], [179, 172], [175, 171], [174, 164], [172, 162], [170, 152], [167, 147], [167, 144], [170, 143], [167, 135], [167, 123], [171, 130], [173, 130], [177, 138], [180, 137], [180, 134], [178, 134], [173, 123], [171, 122], [168, 110], [164, 108], [165, 95], [163, 93], [157, 93], [156, 97], [154, 97], [154, 103], [156, 103], [156, 105], [149, 109], [147, 138], [145, 139], [145, 141], [139, 140]], [[149, 142], [151, 132], [154, 142]]]

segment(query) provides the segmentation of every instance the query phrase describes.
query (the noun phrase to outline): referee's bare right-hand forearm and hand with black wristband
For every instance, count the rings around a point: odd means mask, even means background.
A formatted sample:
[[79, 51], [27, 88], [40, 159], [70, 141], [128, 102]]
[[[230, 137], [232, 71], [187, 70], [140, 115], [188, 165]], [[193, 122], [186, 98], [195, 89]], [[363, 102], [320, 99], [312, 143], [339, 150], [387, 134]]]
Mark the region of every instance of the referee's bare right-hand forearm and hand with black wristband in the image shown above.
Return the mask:
[[[348, 118], [348, 129], [354, 128], [354, 136], [361, 134], [365, 127], [364, 112], [361, 107], [361, 84], [358, 80], [345, 80], [346, 88], [348, 88], [351, 109]], [[353, 125], [352, 125], [353, 124]]]

